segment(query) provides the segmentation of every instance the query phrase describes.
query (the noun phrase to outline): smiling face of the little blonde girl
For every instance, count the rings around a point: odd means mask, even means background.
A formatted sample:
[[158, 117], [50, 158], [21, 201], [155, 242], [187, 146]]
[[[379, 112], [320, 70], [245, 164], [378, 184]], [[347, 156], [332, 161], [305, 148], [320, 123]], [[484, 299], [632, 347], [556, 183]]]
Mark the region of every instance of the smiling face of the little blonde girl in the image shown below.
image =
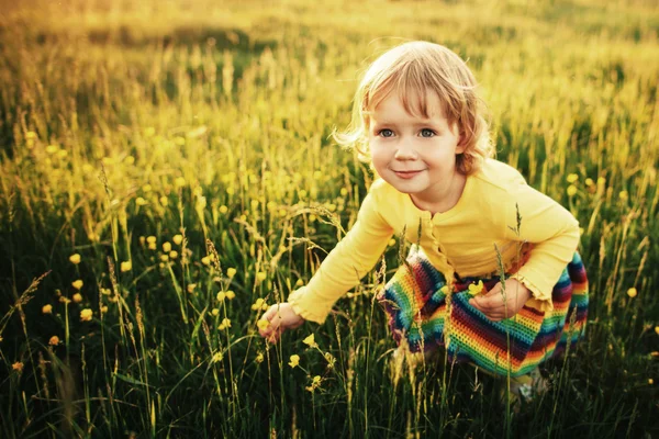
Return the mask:
[[456, 155], [463, 151], [458, 127], [449, 125], [437, 94], [428, 93], [428, 119], [409, 114], [395, 92], [370, 113], [369, 147], [376, 171], [417, 205], [444, 202], [451, 183], [463, 178], [456, 170]]

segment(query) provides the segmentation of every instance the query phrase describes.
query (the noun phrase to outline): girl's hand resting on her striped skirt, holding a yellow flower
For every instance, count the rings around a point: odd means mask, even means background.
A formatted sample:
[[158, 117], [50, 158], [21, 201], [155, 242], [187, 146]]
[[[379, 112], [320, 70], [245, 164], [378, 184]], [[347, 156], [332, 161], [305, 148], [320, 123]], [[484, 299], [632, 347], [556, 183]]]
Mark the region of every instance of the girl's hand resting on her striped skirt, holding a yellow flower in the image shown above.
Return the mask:
[[501, 282], [499, 282], [487, 294], [470, 299], [469, 304], [483, 313], [490, 320], [500, 322], [517, 314], [526, 301], [533, 296], [530, 291], [516, 279], [505, 281], [505, 295], [506, 300], [504, 301]]

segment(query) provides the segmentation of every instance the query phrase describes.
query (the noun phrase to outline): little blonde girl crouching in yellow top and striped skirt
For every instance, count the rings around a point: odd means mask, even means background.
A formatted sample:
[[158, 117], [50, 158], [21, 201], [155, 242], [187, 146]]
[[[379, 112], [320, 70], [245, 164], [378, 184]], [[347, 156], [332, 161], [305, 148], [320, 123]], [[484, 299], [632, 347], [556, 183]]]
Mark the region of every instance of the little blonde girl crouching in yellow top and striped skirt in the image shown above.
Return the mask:
[[426, 42], [400, 45], [369, 67], [337, 140], [379, 179], [309, 284], [264, 314], [263, 337], [276, 342], [304, 320], [324, 323], [393, 234], [412, 249], [377, 299], [410, 350], [444, 346], [449, 361], [528, 376], [583, 334], [579, 224], [491, 158], [476, 88], [460, 57]]

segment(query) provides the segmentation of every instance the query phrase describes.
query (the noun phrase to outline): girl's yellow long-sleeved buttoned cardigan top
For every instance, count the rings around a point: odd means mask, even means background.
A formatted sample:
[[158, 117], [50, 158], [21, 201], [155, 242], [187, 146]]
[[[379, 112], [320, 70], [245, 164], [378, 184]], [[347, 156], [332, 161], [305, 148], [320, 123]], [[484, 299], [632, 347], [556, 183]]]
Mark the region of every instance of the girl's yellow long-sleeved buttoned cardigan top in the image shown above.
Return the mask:
[[[518, 234], [516, 206], [522, 216]], [[513, 278], [530, 290], [527, 305], [540, 311], [552, 308], [551, 290], [579, 243], [579, 223], [570, 212], [526, 184], [517, 170], [494, 159], [487, 159], [467, 178], [454, 207], [434, 215], [379, 179], [364, 199], [353, 228], [311, 281], [290, 294], [293, 311], [324, 323], [334, 303], [373, 268], [392, 235], [403, 230], [405, 239], [420, 244], [447, 280], [456, 273], [461, 278], [495, 275], [494, 245], [507, 271], [518, 260], [518, 243], [523, 248], [530, 244], [528, 260]]]

